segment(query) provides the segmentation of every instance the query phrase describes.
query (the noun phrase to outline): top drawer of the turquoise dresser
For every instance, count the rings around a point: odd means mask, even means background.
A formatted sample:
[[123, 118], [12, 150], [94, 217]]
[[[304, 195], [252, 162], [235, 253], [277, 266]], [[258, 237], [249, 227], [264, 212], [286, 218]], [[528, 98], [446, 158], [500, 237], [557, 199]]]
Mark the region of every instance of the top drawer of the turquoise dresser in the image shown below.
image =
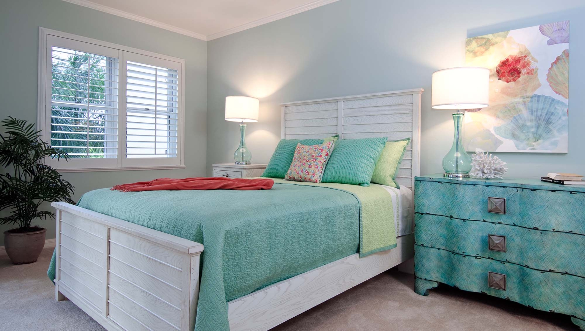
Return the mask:
[[[583, 192], [422, 180], [415, 192], [417, 213], [585, 234]], [[490, 197], [501, 199], [492, 199], [492, 212]]]

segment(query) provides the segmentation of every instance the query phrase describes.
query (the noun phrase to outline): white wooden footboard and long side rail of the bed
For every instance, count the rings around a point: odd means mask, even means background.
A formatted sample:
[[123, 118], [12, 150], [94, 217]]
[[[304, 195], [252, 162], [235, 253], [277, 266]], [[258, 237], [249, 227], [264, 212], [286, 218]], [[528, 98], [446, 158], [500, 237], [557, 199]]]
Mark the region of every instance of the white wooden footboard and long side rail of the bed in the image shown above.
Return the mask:
[[[56, 202], [55, 295], [109, 331], [192, 331], [203, 245], [72, 204]], [[353, 254], [228, 303], [232, 331], [266, 331], [414, 255], [397, 247]]]

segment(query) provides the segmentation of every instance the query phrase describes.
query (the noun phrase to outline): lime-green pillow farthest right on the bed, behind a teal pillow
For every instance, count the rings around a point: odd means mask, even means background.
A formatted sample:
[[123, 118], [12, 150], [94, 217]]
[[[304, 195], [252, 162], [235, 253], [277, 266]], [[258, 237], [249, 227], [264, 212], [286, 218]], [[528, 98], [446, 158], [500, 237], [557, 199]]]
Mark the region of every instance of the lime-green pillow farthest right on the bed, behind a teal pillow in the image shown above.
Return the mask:
[[406, 146], [408, 146], [409, 142], [410, 138], [386, 142], [386, 147], [382, 150], [380, 159], [376, 163], [374, 175], [371, 176], [372, 183], [400, 189], [400, 185], [395, 180], [402, 158], [404, 158], [404, 151], [406, 151]]

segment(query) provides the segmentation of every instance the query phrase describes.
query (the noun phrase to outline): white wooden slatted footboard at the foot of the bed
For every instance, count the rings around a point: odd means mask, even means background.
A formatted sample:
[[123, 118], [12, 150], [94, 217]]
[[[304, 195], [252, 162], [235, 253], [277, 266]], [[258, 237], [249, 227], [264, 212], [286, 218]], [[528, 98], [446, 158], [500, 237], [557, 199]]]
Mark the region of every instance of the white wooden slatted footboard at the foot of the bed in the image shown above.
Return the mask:
[[194, 329], [203, 245], [68, 203], [57, 209], [55, 294], [108, 330]]

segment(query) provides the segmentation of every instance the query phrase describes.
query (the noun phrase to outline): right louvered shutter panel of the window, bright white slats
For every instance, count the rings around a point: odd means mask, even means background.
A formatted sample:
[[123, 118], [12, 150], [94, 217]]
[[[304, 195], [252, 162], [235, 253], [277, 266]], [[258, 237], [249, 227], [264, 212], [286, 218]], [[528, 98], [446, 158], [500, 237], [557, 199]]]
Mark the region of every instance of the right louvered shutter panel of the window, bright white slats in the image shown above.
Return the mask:
[[126, 63], [126, 158], [177, 158], [178, 71]]

